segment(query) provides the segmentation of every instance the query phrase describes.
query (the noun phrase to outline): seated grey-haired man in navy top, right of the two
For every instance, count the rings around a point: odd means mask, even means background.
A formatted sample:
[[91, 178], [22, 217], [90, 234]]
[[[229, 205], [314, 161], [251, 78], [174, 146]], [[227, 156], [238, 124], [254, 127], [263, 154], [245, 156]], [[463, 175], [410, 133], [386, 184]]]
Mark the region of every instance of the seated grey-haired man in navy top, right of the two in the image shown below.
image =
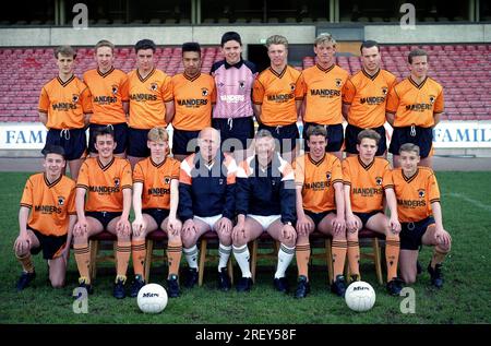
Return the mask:
[[295, 177], [291, 166], [275, 152], [271, 132], [260, 130], [254, 136], [255, 155], [242, 162], [237, 170], [237, 226], [232, 231], [233, 256], [242, 271], [238, 291], [251, 289], [247, 243], [266, 230], [279, 241], [278, 265], [274, 286], [287, 293], [285, 272], [295, 255], [297, 231]]

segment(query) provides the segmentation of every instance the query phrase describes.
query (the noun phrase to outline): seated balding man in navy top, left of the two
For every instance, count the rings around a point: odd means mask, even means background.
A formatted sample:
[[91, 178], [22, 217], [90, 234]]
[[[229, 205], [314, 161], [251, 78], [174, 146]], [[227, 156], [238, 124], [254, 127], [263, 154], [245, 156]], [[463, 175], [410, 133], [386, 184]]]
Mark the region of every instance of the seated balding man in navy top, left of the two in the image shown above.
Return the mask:
[[178, 214], [183, 223], [182, 250], [189, 264], [184, 286], [191, 288], [197, 282], [197, 239], [214, 230], [219, 238], [218, 288], [228, 290], [237, 165], [230, 155], [219, 151], [217, 130], [203, 129], [197, 144], [200, 151], [182, 162], [179, 176]]

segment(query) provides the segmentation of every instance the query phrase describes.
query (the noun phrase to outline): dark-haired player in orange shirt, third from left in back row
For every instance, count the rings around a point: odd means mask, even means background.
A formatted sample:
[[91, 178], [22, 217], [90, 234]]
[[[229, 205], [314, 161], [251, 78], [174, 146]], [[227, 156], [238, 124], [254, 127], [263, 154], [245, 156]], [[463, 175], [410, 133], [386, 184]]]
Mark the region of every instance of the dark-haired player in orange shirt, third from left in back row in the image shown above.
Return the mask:
[[131, 166], [149, 155], [146, 145], [148, 131], [167, 127], [173, 115], [170, 76], [155, 68], [156, 45], [151, 39], [136, 43], [136, 70], [128, 74], [130, 118], [128, 130], [128, 159]]

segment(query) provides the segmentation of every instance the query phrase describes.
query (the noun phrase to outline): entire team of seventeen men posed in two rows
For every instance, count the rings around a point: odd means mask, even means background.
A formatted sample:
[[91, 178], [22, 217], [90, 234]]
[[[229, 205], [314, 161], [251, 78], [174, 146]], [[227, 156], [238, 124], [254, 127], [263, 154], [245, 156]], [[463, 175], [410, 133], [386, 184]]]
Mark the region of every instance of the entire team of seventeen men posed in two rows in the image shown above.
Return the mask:
[[[144, 284], [145, 236], [161, 227], [169, 235], [167, 283], [171, 297], [179, 295], [181, 247], [190, 266], [185, 286], [192, 287], [197, 278], [197, 238], [214, 229], [220, 239], [221, 289], [230, 287], [226, 263], [232, 249], [242, 271], [237, 288], [251, 288], [247, 243], [267, 230], [282, 243], [274, 285], [280, 291], [288, 290], [285, 271], [297, 253], [296, 297], [300, 298], [310, 290], [309, 234], [316, 228], [333, 236], [332, 289], [343, 296], [345, 256], [348, 254], [351, 279], [359, 279], [358, 230], [368, 227], [386, 236], [387, 289], [397, 295], [402, 289], [397, 277], [399, 220], [403, 279], [415, 282], [417, 249], [421, 243], [433, 244], [429, 271], [432, 283], [441, 286], [441, 262], [451, 240], [443, 229], [434, 175], [431, 169], [417, 167], [420, 157], [421, 163], [430, 164], [431, 128], [443, 110], [442, 88], [426, 75], [426, 52], [410, 52], [411, 75], [396, 84], [394, 75], [380, 69], [374, 41], [362, 44], [363, 69], [350, 79], [334, 64], [335, 41], [328, 34], [315, 39], [318, 63], [302, 73], [287, 65], [288, 43], [283, 36], [267, 39], [271, 68], [259, 75], [252, 63], [242, 60], [237, 33], [224, 34], [221, 46], [226, 59], [214, 64], [209, 76], [200, 73], [200, 46], [184, 44], [184, 72], [170, 79], [154, 68], [153, 41], [136, 44], [137, 69], [128, 76], [112, 67], [113, 46], [99, 41], [95, 50], [98, 68], [84, 74], [85, 84], [73, 75], [74, 51], [70, 47], [57, 49], [59, 76], [43, 88], [39, 102], [40, 119], [49, 129], [44, 150], [46, 172], [29, 178], [21, 203], [23, 218], [15, 252], [24, 271], [17, 289], [34, 278], [29, 250], [40, 248], [51, 262], [53, 286], [64, 283], [65, 243], [71, 242], [73, 229], [80, 285], [91, 291], [87, 239], [107, 229], [118, 236], [113, 295], [125, 296], [127, 267], [133, 252], [135, 279], [131, 295], [135, 296]], [[302, 115], [310, 153], [295, 159], [298, 114]], [[255, 154], [248, 155], [246, 148], [254, 136], [253, 115], [260, 129]], [[349, 123], [346, 151], [348, 156], [358, 155], [345, 159], [342, 170], [338, 158], [345, 142], [344, 116]], [[386, 152], [385, 119], [394, 126], [390, 148], [394, 165], [406, 163], [394, 174], [384, 158], [375, 158]], [[164, 130], [170, 122], [173, 158], [167, 157]], [[91, 155], [98, 156], [83, 162], [87, 124]], [[196, 139], [199, 151], [192, 154]], [[274, 139], [279, 141], [287, 160], [274, 153]], [[237, 167], [230, 155], [223, 154], [229, 150], [238, 162], [247, 159]], [[326, 154], [326, 150], [334, 155]], [[128, 154], [131, 166], [116, 159], [113, 153]], [[64, 157], [77, 180], [76, 203], [71, 196], [74, 182], [61, 177]], [[183, 159], [180, 169], [176, 158]], [[291, 160], [296, 178], [288, 163]], [[64, 194], [55, 189], [61, 180], [65, 182]], [[135, 220], [130, 227], [132, 187]], [[48, 191], [38, 193], [34, 189]], [[383, 213], [384, 194], [391, 218]], [[77, 220], [67, 215], [74, 212], [75, 204]], [[51, 227], [51, 219], [50, 227], [46, 227], [44, 219], [48, 216], [61, 217], [62, 222], [55, 220], [57, 227]]]

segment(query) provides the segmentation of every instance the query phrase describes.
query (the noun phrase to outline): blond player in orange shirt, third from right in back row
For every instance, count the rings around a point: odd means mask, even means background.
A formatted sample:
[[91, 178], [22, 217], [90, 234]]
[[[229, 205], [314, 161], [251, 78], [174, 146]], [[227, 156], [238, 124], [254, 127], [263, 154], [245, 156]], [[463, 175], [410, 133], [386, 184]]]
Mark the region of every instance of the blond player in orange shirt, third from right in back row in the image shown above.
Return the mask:
[[316, 64], [303, 70], [300, 76], [306, 105], [303, 139], [307, 139], [310, 126], [322, 124], [327, 130], [327, 152], [342, 159], [342, 99], [349, 73], [335, 64], [336, 40], [331, 34], [321, 34], [315, 38], [314, 52]]

